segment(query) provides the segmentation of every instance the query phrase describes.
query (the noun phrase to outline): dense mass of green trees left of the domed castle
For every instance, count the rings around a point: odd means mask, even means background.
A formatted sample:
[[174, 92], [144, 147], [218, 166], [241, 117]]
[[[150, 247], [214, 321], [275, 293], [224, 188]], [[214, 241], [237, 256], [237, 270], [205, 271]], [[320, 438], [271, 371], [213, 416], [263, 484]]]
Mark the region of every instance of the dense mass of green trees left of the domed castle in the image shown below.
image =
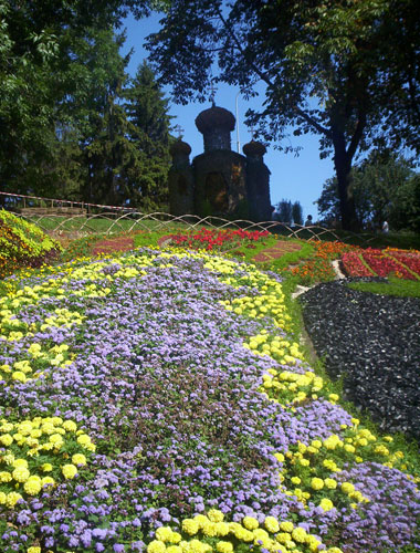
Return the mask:
[[[165, 202], [168, 103], [150, 85], [150, 69], [149, 83], [129, 80], [125, 36], [115, 31], [128, 9], [140, 17], [149, 3], [0, 0], [2, 191], [140, 208]], [[158, 118], [133, 117], [155, 96]]]

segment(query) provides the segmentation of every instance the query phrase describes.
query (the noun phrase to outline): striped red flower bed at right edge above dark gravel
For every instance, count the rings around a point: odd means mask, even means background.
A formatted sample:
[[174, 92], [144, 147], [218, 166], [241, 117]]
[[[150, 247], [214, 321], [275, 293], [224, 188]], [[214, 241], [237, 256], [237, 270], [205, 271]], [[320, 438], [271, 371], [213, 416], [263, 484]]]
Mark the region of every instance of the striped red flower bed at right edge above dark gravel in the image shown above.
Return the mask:
[[349, 276], [388, 276], [420, 280], [420, 252], [387, 248], [345, 252], [342, 258]]

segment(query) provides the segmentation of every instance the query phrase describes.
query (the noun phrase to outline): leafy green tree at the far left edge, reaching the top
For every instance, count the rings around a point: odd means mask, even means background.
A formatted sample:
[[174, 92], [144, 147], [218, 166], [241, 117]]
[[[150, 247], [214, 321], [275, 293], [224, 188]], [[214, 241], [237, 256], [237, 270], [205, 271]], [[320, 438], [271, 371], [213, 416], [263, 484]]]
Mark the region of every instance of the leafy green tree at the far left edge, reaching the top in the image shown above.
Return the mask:
[[43, 174], [54, 157], [57, 106], [65, 105], [74, 86], [74, 43], [90, 28], [118, 25], [130, 8], [140, 17], [146, 3], [0, 0], [2, 190], [44, 190]]

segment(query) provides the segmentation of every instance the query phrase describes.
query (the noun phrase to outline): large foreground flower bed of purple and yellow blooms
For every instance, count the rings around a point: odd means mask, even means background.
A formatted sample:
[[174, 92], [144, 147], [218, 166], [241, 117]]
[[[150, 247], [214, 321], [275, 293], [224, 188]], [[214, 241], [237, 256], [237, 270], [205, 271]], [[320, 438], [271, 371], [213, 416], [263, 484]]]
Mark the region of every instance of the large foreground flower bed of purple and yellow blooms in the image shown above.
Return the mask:
[[419, 476], [305, 363], [277, 275], [139, 249], [9, 286], [3, 552], [414, 546]]

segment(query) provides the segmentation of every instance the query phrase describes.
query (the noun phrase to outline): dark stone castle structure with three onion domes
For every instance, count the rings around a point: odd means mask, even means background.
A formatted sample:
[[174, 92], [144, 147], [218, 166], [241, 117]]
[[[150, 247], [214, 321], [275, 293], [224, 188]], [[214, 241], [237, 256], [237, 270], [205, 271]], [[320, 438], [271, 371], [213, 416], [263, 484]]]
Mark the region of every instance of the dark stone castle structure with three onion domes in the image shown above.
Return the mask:
[[187, 143], [178, 139], [170, 147], [170, 212], [269, 221], [272, 207], [265, 147], [251, 140], [243, 146], [244, 156], [232, 152], [230, 134], [235, 118], [223, 107], [213, 105], [201, 112], [196, 125], [203, 135], [203, 154], [190, 163]]

